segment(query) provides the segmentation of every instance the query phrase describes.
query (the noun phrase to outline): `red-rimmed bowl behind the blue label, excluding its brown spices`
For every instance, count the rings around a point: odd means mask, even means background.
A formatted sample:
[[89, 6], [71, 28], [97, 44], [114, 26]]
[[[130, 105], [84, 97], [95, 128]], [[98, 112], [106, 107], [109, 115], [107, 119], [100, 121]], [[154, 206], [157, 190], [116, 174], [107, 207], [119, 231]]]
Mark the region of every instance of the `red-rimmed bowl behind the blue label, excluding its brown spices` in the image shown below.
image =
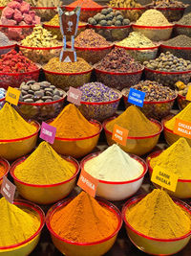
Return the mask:
[[[123, 101], [124, 101], [125, 107], [127, 108], [131, 105], [128, 103], [127, 89], [124, 88], [121, 93], [123, 95]], [[174, 97], [173, 99], [161, 101], [161, 102], [146, 102], [146, 101], [144, 101], [143, 106], [139, 107], [139, 109], [148, 118], [154, 118], [157, 120], [161, 120], [162, 118], [169, 115], [170, 110], [172, 109], [176, 99], [177, 99], [177, 96]]]

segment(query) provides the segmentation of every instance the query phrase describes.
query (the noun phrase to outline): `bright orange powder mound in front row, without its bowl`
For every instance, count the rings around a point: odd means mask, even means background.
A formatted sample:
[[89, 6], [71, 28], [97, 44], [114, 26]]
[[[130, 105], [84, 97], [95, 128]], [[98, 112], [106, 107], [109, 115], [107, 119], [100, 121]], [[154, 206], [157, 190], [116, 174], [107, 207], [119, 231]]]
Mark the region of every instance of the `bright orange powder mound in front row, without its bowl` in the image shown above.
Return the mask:
[[93, 243], [115, 232], [117, 216], [95, 198], [81, 192], [67, 206], [54, 212], [51, 227], [65, 240]]

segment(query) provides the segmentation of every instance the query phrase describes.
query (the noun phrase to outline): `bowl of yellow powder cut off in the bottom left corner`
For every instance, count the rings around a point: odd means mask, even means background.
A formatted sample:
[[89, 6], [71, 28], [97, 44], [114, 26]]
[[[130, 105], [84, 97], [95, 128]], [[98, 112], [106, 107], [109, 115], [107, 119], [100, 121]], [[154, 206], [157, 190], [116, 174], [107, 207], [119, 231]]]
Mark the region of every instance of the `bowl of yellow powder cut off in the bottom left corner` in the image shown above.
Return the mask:
[[10, 203], [6, 198], [1, 198], [0, 213], [5, 217], [0, 221], [0, 253], [10, 256], [30, 255], [40, 240], [45, 223], [44, 212], [29, 201], [14, 200]]

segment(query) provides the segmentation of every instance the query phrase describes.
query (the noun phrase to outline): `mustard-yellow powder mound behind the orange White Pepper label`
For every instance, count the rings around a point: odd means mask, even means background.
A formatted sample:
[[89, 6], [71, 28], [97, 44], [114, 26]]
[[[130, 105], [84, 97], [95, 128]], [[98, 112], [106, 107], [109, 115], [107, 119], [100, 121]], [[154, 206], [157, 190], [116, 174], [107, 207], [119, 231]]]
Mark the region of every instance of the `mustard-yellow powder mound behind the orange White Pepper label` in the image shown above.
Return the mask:
[[115, 124], [121, 128], [128, 129], [129, 137], [149, 136], [159, 132], [159, 127], [146, 118], [135, 105], [129, 106], [116, 119], [109, 122], [106, 128], [113, 132]]

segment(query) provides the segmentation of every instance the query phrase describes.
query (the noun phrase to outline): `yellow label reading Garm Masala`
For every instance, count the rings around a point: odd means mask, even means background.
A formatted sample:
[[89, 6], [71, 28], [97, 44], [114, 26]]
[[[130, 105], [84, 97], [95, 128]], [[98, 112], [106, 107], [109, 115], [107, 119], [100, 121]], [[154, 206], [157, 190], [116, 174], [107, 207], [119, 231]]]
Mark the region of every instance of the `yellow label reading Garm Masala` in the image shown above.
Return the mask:
[[175, 192], [177, 188], [179, 176], [163, 170], [161, 167], [156, 166], [153, 169], [151, 181], [158, 184], [160, 187]]

